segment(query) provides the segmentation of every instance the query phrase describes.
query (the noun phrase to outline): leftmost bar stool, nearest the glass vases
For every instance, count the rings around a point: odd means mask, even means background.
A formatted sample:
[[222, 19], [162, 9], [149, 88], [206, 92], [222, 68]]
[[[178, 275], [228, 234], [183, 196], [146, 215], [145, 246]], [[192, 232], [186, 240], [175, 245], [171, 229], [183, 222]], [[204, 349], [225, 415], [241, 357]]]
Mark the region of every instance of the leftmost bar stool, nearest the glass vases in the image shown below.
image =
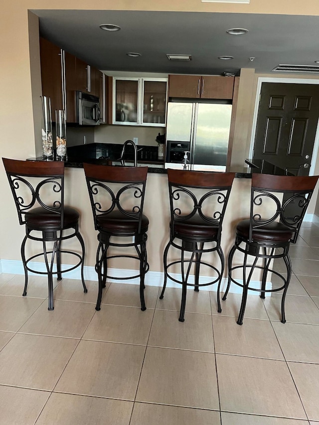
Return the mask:
[[[2, 158], [2, 161], [13, 194], [19, 223], [25, 224], [25, 237], [21, 244], [21, 257], [25, 274], [22, 295], [26, 295], [28, 272], [47, 275], [48, 310], [53, 310], [54, 275], [57, 275], [59, 281], [62, 279], [62, 273], [70, 272], [81, 266], [82, 285], [84, 292], [87, 292], [83, 275], [85, 247], [79, 232], [79, 213], [74, 208], [64, 205], [64, 162], [21, 161], [7, 158]], [[62, 234], [69, 229], [73, 229], [71, 233]], [[34, 232], [37, 233], [34, 234]], [[81, 254], [61, 249], [62, 241], [74, 237], [80, 242]], [[27, 240], [41, 242], [43, 252], [26, 259], [25, 245]], [[47, 250], [47, 243], [53, 243], [52, 251]], [[77, 257], [78, 263], [66, 270], [61, 270], [62, 253]], [[42, 256], [44, 257], [46, 271], [40, 272], [31, 269], [29, 262]], [[55, 260], [56, 271], [53, 270]]]

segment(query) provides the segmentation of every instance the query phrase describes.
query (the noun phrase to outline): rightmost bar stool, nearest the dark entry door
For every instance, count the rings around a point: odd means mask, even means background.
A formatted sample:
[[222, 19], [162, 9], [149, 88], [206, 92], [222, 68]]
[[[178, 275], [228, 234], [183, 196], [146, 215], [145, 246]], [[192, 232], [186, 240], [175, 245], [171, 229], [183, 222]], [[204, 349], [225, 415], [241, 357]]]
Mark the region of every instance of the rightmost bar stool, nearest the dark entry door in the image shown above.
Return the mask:
[[[237, 320], [239, 325], [243, 323], [248, 289], [260, 291], [260, 297], [263, 299], [265, 292], [284, 289], [281, 301], [281, 321], [282, 323], [286, 322], [285, 298], [292, 274], [289, 247], [290, 243], [295, 244], [297, 241], [300, 226], [318, 177], [252, 175], [250, 217], [237, 224], [236, 240], [228, 256], [228, 285], [222, 298], [226, 299], [232, 282], [243, 288]], [[243, 262], [239, 266], [232, 264], [236, 251], [244, 254]], [[248, 256], [252, 258], [252, 264], [247, 263]], [[286, 279], [271, 268], [271, 262], [279, 258], [282, 258], [286, 265]], [[261, 261], [258, 263], [259, 260]], [[259, 288], [250, 285], [255, 269], [262, 271]], [[242, 271], [242, 282], [233, 278], [234, 270]], [[283, 285], [280, 288], [266, 289], [268, 273], [279, 276]]]

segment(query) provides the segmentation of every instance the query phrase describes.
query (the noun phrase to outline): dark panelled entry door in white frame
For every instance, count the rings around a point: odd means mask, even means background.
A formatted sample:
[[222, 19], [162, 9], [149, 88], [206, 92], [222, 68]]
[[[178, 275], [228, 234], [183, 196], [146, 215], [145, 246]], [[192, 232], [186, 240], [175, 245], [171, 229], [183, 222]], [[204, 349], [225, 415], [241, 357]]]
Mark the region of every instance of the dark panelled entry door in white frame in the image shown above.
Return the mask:
[[254, 158], [308, 175], [318, 118], [319, 85], [263, 83]]

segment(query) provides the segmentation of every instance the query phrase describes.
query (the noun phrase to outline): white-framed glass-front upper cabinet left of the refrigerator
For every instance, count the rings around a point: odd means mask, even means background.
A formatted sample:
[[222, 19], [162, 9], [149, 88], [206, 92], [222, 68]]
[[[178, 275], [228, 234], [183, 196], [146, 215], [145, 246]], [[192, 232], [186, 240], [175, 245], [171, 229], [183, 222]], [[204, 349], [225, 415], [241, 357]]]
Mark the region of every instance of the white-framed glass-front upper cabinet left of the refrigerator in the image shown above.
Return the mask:
[[165, 127], [166, 78], [113, 77], [112, 123]]

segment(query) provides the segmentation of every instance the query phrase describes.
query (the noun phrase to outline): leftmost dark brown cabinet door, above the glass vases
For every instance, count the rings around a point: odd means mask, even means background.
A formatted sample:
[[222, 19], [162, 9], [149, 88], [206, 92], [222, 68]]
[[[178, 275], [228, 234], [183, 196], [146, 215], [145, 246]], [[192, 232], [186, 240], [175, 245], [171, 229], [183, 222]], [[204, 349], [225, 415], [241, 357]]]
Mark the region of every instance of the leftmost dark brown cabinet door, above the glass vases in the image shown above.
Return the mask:
[[61, 49], [40, 37], [42, 95], [51, 98], [52, 121], [55, 110], [63, 109]]

